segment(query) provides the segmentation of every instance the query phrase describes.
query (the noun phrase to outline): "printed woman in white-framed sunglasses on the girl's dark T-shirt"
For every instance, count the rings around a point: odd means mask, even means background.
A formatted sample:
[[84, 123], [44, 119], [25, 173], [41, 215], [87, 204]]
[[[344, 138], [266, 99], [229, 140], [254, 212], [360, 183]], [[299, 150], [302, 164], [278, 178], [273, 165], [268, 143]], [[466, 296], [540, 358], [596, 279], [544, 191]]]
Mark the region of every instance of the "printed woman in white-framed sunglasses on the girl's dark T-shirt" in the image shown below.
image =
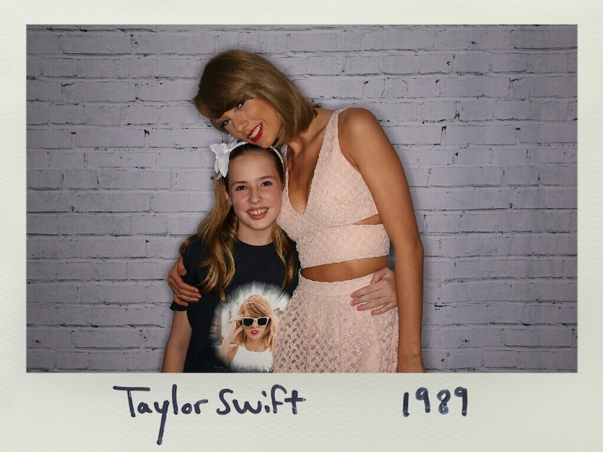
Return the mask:
[[254, 294], [243, 301], [237, 314], [229, 321], [220, 357], [234, 372], [272, 372], [276, 316], [270, 302]]

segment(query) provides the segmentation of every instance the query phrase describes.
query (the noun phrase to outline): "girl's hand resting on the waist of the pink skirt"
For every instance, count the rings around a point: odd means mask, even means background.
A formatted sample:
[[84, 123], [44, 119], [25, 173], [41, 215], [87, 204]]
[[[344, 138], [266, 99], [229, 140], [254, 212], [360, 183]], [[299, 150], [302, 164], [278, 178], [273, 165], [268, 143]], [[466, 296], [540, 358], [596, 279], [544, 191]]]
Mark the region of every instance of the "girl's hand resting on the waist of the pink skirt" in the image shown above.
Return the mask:
[[385, 267], [373, 274], [371, 284], [352, 293], [350, 305], [359, 311], [373, 309], [371, 314], [383, 314], [397, 307], [396, 279], [394, 272]]

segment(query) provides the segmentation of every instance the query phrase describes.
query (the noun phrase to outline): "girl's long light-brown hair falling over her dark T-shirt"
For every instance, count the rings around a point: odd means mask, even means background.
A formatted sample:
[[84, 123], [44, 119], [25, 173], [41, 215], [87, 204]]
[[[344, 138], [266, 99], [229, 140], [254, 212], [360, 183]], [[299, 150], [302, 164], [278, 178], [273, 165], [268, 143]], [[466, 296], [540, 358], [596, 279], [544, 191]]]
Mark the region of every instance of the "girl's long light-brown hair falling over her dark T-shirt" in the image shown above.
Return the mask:
[[[285, 180], [285, 170], [281, 159], [276, 152], [271, 149], [264, 149], [255, 145], [241, 145], [236, 147], [230, 154], [230, 161], [246, 154], [267, 154], [271, 156], [281, 177], [281, 182]], [[234, 277], [234, 252], [233, 247], [239, 232], [239, 219], [232, 210], [232, 205], [228, 203], [225, 195], [225, 187], [228, 187], [228, 176], [218, 178], [218, 174], [213, 178], [213, 194], [215, 204], [213, 209], [197, 227], [197, 233], [188, 237], [180, 245], [180, 255], [184, 254], [186, 247], [193, 240], [200, 239], [206, 252], [206, 258], [196, 263], [199, 267], [207, 267], [207, 276], [199, 283], [201, 294], [218, 293], [220, 300], [226, 302], [225, 289], [232, 282]], [[272, 226], [272, 243], [276, 254], [283, 262], [285, 267], [285, 276], [283, 277], [282, 287], [289, 286], [297, 270], [297, 256], [287, 235], [276, 223]]]

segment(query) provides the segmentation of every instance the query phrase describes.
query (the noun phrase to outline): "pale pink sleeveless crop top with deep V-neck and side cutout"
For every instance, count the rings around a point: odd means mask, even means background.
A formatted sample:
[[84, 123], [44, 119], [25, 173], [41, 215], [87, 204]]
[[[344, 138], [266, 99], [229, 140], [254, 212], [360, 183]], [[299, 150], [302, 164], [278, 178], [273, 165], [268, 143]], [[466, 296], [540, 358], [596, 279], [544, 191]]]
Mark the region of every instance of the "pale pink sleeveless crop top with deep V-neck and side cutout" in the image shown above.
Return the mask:
[[289, 201], [285, 175], [283, 207], [277, 223], [297, 242], [302, 268], [387, 256], [390, 251], [383, 224], [354, 224], [378, 212], [362, 175], [341, 154], [337, 134], [341, 111], [334, 112], [327, 123], [303, 214]]

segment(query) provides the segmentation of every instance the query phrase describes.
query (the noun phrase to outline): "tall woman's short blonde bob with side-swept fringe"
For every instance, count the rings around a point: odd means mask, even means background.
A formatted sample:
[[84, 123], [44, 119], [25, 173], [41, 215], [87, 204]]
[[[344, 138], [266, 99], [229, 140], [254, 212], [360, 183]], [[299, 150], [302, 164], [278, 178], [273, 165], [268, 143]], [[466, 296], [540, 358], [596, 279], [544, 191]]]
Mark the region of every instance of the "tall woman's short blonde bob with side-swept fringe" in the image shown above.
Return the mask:
[[193, 99], [199, 113], [225, 132], [216, 119], [248, 99], [262, 99], [276, 110], [282, 127], [274, 146], [297, 138], [316, 115], [314, 106], [294, 83], [260, 55], [227, 50], [210, 59]]

